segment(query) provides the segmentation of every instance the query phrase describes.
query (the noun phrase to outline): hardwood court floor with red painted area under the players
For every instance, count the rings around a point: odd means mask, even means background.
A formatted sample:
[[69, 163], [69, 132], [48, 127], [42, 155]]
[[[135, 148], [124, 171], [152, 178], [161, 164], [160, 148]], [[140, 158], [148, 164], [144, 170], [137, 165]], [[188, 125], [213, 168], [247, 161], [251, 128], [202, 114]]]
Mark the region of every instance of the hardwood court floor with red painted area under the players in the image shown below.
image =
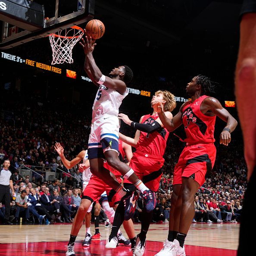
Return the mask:
[[[185, 241], [187, 256], [236, 256], [239, 224], [191, 224]], [[135, 234], [140, 225], [134, 224]], [[65, 245], [69, 240], [71, 224], [55, 225], [0, 225], [0, 256], [65, 256]], [[100, 225], [101, 238], [92, 240], [91, 246], [82, 247], [85, 226], [76, 239], [76, 256], [129, 256], [129, 247], [120, 245], [116, 249], [106, 250], [105, 244], [111, 228]], [[126, 236], [123, 228], [121, 231]], [[94, 225], [91, 225], [94, 234]], [[144, 256], [154, 256], [162, 249], [162, 242], [168, 234], [168, 224], [152, 224], [147, 235]]]

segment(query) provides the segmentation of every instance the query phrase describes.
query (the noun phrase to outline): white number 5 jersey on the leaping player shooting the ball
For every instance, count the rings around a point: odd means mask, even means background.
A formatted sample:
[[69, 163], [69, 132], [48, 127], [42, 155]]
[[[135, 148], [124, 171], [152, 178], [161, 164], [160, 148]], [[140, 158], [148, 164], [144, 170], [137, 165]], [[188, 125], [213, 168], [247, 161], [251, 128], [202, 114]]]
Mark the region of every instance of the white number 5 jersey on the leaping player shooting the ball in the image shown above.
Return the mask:
[[92, 118], [103, 116], [104, 114], [117, 116], [119, 113], [119, 107], [122, 104], [122, 100], [127, 95], [127, 88], [125, 94], [121, 95], [116, 90], [109, 89], [104, 84], [100, 84], [94, 100]]

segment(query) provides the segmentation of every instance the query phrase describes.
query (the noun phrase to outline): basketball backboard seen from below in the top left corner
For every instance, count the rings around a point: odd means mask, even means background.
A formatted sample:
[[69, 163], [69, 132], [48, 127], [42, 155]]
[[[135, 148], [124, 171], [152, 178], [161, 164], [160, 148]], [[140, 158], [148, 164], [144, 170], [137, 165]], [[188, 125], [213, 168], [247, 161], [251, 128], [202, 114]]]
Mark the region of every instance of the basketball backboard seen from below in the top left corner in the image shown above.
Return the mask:
[[[18, 4], [19, 0], [1, 0], [0, 3], [0, 49], [46, 37], [94, 18], [94, 0], [22, 0], [23, 6]], [[7, 13], [10, 5], [12, 8], [9, 9], [16, 9], [16, 14]], [[36, 21], [31, 19], [34, 16]]]

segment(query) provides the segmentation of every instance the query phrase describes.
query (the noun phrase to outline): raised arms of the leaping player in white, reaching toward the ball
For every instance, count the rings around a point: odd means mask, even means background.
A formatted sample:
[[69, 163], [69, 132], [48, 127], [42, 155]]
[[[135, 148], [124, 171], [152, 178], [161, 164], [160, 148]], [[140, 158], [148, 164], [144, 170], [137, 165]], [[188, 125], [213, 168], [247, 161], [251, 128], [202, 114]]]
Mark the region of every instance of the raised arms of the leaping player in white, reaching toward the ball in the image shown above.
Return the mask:
[[[92, 45], [91, 37], [88, 38], [86, 36], [85, 41], [84, 39], [82, 39], [82, 43], [80, 42], [80, 44], [84, 49], [84, 54], [86, 55], [84, 69], [87, 72], [87, 75], [90, 74], [91, 80], [96, 82], [97, 84], [104, 84], [106, 87], [116, 90], [122, 95], [125, 94], [125, 91], [126, 91], [125, 82], [119, 79], [112, 79], [112, 78], [106, 77], [105, 75], [102, 74], [102, 72], [96, 65], [96, 62], [92, 54], [96, 44]], [[119, 75], [124, 75], [124, 73], [120, 73]]]

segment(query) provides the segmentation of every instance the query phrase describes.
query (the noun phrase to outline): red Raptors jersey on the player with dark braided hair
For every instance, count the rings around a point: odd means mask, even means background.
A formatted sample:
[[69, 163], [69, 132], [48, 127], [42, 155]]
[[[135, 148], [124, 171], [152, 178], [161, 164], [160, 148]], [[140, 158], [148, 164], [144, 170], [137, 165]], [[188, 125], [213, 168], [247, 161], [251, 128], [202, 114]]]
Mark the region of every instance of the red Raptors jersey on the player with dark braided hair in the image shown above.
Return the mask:
[[200, 110], [201, 103], [207, 97], [209, 96], [203, 95], [193, 103], [190, 101], [182, 109], [182, 121], [187, 135], [185, 141], [188, 143], [197, 144], [215, 141], [213, 133], [216, 116], [206, 116]]

